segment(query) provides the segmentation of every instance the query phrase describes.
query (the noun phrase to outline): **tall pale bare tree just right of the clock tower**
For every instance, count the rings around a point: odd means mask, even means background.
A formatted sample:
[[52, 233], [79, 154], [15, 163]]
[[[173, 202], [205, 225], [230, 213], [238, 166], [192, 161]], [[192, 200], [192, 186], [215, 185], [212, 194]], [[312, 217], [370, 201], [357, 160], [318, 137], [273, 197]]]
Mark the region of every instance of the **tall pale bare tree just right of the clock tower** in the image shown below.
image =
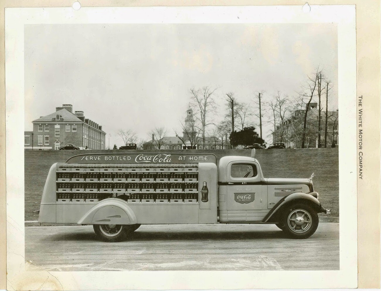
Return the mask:
[[216, 102], [214, 100], [214, 92], [217, 90], [211, 89], [210, 86], [203, 87], [202, 89], [191, 89], [191, 100], [195, 107], [198, 109], [198, 113], [195, 118], [200, 122], [200, 131], [202, 135], [202, 144], [205, 147], [205, 128], [209, 124], [213, 124], [208, 121], [208, 113], [216, 109]]

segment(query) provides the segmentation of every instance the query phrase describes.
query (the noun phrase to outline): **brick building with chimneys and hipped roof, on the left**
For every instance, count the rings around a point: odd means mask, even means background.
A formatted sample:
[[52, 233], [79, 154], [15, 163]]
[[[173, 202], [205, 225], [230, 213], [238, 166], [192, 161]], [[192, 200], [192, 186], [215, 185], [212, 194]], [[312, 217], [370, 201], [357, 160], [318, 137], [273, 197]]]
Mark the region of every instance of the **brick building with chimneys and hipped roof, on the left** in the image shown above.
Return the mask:
[[102, 126], [85, 118], [83, 111], [73, 113], [73, 105], [63, 104], [56, 111], [33, 120], [33, 131], [24, 132], [24, 149], [57, 150], [73, 144], [80, 149], [105, 149]]

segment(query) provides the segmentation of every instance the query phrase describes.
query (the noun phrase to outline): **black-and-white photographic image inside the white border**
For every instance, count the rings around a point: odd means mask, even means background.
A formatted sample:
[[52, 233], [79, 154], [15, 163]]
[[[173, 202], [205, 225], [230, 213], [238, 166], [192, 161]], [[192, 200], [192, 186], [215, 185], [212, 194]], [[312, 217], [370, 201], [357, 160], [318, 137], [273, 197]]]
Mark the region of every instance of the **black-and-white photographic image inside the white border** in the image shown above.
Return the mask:
[[349, 270], [343, 24], [160, 12], [24, 24], [25, 269]]

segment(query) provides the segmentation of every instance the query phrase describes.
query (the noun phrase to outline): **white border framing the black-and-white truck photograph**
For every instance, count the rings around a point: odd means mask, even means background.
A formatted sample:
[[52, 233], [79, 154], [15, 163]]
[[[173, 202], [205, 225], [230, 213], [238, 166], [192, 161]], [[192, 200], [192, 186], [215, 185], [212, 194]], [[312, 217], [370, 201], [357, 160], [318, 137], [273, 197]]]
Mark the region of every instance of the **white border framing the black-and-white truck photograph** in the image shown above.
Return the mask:
[[[206, 15], [208, 17], [206, 17]], [[338, 26], [340, 270], [30, 271], [24, 251], [24, 25], [83, 23], [336, 23]], [[355, 5], [6, 8], [8, 289], [252, 289], [357, 287]], [[322, 262], [324, 264], [324, 262]], [[276, 272], [276, 273], [274, 273]], [[149, 275], [150, 280], [147, 280]], [[195, 280], [197, 278], [197, 280]], [[276, 278], [276, 279], [275, 279]]]

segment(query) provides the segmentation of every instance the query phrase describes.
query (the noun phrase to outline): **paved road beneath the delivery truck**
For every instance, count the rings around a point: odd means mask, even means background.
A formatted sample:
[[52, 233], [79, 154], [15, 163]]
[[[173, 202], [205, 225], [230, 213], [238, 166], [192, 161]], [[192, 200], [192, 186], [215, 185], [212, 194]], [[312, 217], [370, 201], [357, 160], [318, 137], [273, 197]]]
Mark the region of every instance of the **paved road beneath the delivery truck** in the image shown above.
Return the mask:
[[339, 224], [302, 240], [275, 225], [142, 225], [119, 243], [98, 241], [92, 226], [27, 226], [25, 254], [49, 271], [338, 270]]

